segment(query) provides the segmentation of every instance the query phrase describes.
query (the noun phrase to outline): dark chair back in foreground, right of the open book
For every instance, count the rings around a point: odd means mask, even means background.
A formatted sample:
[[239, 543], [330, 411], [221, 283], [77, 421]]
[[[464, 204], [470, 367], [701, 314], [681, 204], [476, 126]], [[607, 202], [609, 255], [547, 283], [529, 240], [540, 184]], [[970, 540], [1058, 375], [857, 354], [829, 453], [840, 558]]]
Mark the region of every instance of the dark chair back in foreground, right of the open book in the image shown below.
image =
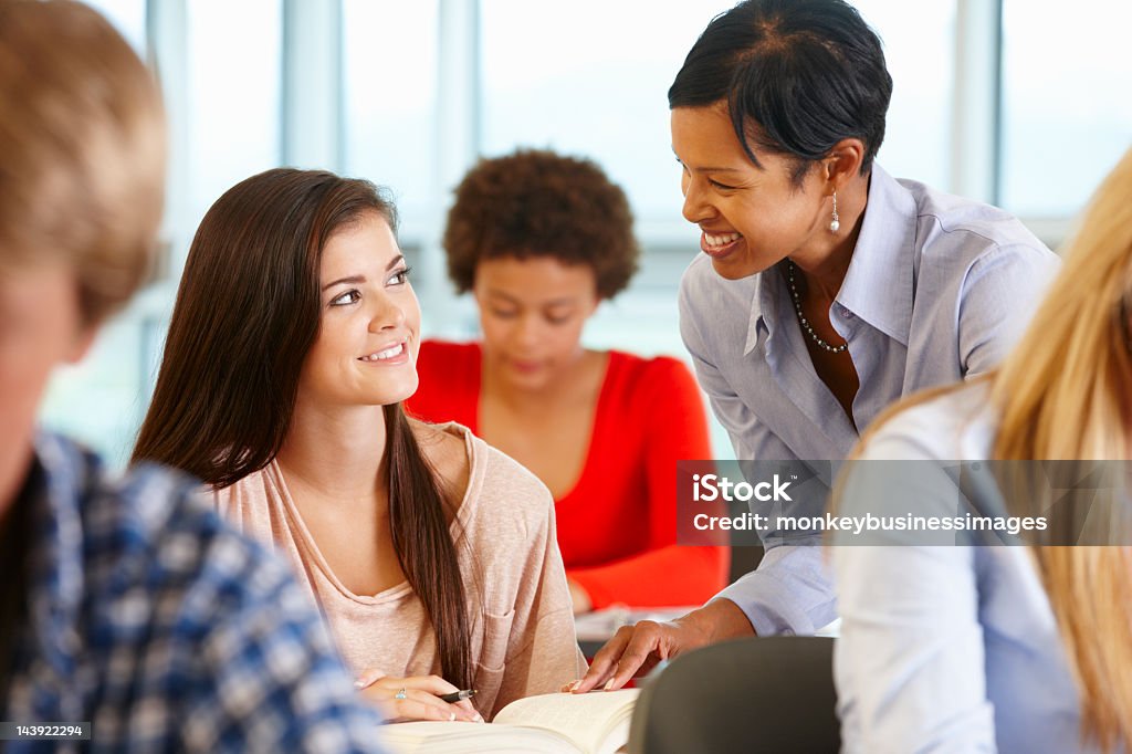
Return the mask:
[[713, 644], [676, 658], [641, 692], [629, 754], [837, 754], [832, 639]]

